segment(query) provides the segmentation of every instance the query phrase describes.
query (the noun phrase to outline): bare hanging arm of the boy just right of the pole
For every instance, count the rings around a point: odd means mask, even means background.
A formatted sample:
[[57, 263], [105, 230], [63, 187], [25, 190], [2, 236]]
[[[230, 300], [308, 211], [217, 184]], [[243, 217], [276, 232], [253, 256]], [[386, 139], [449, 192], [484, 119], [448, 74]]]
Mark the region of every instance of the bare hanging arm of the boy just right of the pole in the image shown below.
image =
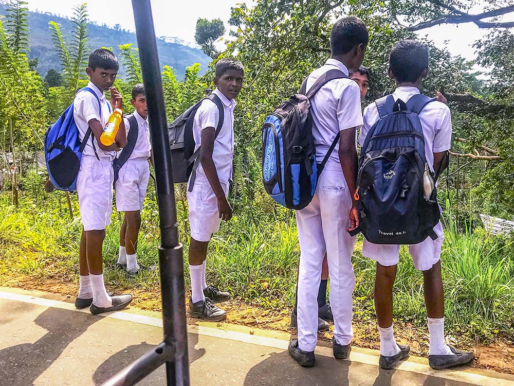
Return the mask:
[[216, 129], [207, 127], [201, 131], [201, 146], [200, 146], [200, 163], [204, 168], [205, 176], [211, 184], [211, 188], [216, 195], [218, 201], [219, 218], [222, 220], [230, 220], [232, 218], [232, 208], [225, 196], [222, 184], [219, 183], [218, 173], [216, 166], [212, 160], [212, 152], [214, 150], [214, 137]]

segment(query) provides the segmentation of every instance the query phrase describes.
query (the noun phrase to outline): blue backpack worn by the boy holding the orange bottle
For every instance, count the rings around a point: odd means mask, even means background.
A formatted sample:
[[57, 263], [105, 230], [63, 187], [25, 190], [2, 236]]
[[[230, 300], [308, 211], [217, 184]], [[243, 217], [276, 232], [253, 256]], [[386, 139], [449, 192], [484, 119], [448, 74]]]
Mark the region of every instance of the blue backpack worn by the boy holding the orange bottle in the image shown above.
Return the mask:
[[[101, 115], [102, 104], [98, 95], [89, 87], [84, 87], [80, 91], [88, 91], [95, 96]], [[110, 111], [111, 108], [109, 107]], [[90, 127], [87, 128], [82, 142], [80, 141], [79, 129], [73, 117], [73, 103], [46, 131], [44, 139], [46, 169], [48, 170], [50, 181], [57, 189], [65, 191], [77, 190], [80, 160], [89, 137], [96, 154], [95, 136], [91, 132]]]

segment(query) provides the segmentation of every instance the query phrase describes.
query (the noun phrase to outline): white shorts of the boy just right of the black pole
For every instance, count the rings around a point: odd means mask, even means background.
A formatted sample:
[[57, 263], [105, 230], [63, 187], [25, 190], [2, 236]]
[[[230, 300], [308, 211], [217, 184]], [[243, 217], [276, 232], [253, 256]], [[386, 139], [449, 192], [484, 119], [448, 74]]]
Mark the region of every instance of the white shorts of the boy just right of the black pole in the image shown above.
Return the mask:
[[[228, 197], [229, 183], [220, 181]], [[209, 241], [219, 230], [218, 201], [207, 177], [196, 175], [193, 191], [188, 191], [189, 225], [196, 241]]]

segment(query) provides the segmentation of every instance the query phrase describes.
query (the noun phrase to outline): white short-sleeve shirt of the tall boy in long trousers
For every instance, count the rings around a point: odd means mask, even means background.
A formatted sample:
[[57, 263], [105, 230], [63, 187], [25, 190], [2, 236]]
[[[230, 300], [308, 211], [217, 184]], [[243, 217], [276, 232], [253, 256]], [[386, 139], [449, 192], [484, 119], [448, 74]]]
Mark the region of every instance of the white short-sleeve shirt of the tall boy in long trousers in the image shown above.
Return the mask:
[[[315, 69], [307, 79], [307, 91], [316, 80], [331, 69], [339, 69], [348, 75], [346, 66], [336, 59], [328, 59]], [[342, 78], [327, 82], [315, 94], [311, 108], [313, 112], [313, 135], [316, 145], [316, 160], [321, 162], [328, 148], [341, 130], [362, 125], [359, 85], [352, 79]], [[327, 163], [339, 164], [339, 143], [334, 148]]]

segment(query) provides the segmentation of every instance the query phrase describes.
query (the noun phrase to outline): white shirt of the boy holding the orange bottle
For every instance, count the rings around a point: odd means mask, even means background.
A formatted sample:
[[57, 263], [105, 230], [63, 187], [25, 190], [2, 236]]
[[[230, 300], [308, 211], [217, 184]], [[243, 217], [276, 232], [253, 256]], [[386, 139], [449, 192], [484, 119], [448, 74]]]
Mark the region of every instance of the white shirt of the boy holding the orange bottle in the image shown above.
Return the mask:
[[[84, 135], [86, 134], [87, 128], [89, 127], [88, 122], [91, 119], [100, 121], [102, 127], [105, 127], [112, 111], [111, 102], [107, 101], [103, 92], [100, 91], [100, 89], [95, 86], [93, 82], [87, 83], [87, 86], [93, 90], [100, 99], [102, 113], [100, 114], [97, 99], [89, 91], [79, 91], [77, 95], [75, 95], [73, 103], [73, 117], [75, 119], [75, 123], [77, 124], [77, 128], [79, 129], [79, 138], [81, 141], [84, 139]], [[84, 147], [82, 154], [95, 156], [95, 151], [91, 145], [91, 138], [93, 138], [93, 142], [99, 157], [113, 158], [115, 156], [116, 152], [114, 150], [104, 151], [100, 149], [93, 133], [91, 133], [90, 137], [88, 138], [87, 144]]]

